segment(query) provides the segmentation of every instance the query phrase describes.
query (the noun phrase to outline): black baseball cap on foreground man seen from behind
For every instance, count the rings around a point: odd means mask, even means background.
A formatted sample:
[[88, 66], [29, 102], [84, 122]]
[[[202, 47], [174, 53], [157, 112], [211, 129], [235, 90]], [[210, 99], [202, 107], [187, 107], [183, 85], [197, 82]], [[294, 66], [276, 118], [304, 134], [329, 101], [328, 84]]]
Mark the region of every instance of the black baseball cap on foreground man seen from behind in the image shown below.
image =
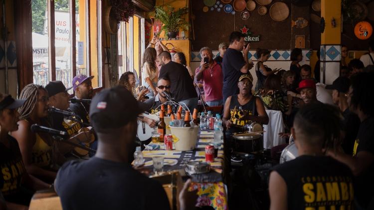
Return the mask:
[[107, 133], [120, 128], [142, 113], [137, 100], [123, 86], [104, 89], [96, 94], [90, 105], [92, 126], [98, 132]]

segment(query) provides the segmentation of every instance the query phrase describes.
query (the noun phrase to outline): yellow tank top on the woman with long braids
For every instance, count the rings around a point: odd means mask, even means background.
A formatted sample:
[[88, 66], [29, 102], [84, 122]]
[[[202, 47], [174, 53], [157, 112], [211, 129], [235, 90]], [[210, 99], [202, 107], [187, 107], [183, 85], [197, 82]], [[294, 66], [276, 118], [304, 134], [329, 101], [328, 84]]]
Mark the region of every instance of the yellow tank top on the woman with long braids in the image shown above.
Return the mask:
[[51, 165], [52, 148], [47, 145], [39, 134], [35, 134], [35, 144], [32, 147], [32, 164], [38, 167], [49, 167]]

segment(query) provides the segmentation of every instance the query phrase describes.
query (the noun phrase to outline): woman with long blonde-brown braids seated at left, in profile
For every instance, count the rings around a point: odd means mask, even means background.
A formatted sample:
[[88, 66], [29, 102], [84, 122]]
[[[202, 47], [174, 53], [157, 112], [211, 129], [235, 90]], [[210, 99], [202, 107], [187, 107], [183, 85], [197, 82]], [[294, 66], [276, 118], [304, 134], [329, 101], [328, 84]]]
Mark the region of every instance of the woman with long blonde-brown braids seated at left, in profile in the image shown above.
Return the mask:
[[27, 172], [51, 183], [56, 178], [56, 172], [51, 168], [53, 140], [49, 139], [49, 135], [30, 130], [35, 123], [48, 126], [48, 93], [40, 85], [28, 84], [22, 89], [19, 98], [26, 101], [18, 108], [18, 130], [11, 135], [19, 144]]

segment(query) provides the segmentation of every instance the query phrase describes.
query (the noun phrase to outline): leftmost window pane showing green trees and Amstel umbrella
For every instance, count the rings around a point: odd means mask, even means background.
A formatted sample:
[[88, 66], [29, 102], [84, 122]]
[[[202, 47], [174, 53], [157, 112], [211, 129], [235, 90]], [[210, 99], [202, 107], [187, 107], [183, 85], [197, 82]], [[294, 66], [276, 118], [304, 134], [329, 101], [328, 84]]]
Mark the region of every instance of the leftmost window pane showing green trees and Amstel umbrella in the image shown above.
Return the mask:
[[47, 0], [31, 0], [33, 83], [45, 86], [48, 69]]

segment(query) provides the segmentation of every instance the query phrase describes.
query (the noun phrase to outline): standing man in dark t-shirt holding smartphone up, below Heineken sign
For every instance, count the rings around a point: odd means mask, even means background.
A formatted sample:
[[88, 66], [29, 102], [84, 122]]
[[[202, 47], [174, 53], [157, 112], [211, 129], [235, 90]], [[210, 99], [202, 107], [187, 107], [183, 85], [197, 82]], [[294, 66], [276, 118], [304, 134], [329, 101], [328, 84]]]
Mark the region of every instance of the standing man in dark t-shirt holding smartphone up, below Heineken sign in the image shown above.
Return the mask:
[[[253, 62], [248, 62], [250, 44], [245, 45], [244, 37], [245, 34], [233, 31], [230, 34], [230, 44], [223, 55], [223, 101], [238, 93], [237, 81], [242, 74], [249, 74], [252, 77], [249, 69], [253, 67]], [[240, 52], [241, 50], [243, 53]]]

